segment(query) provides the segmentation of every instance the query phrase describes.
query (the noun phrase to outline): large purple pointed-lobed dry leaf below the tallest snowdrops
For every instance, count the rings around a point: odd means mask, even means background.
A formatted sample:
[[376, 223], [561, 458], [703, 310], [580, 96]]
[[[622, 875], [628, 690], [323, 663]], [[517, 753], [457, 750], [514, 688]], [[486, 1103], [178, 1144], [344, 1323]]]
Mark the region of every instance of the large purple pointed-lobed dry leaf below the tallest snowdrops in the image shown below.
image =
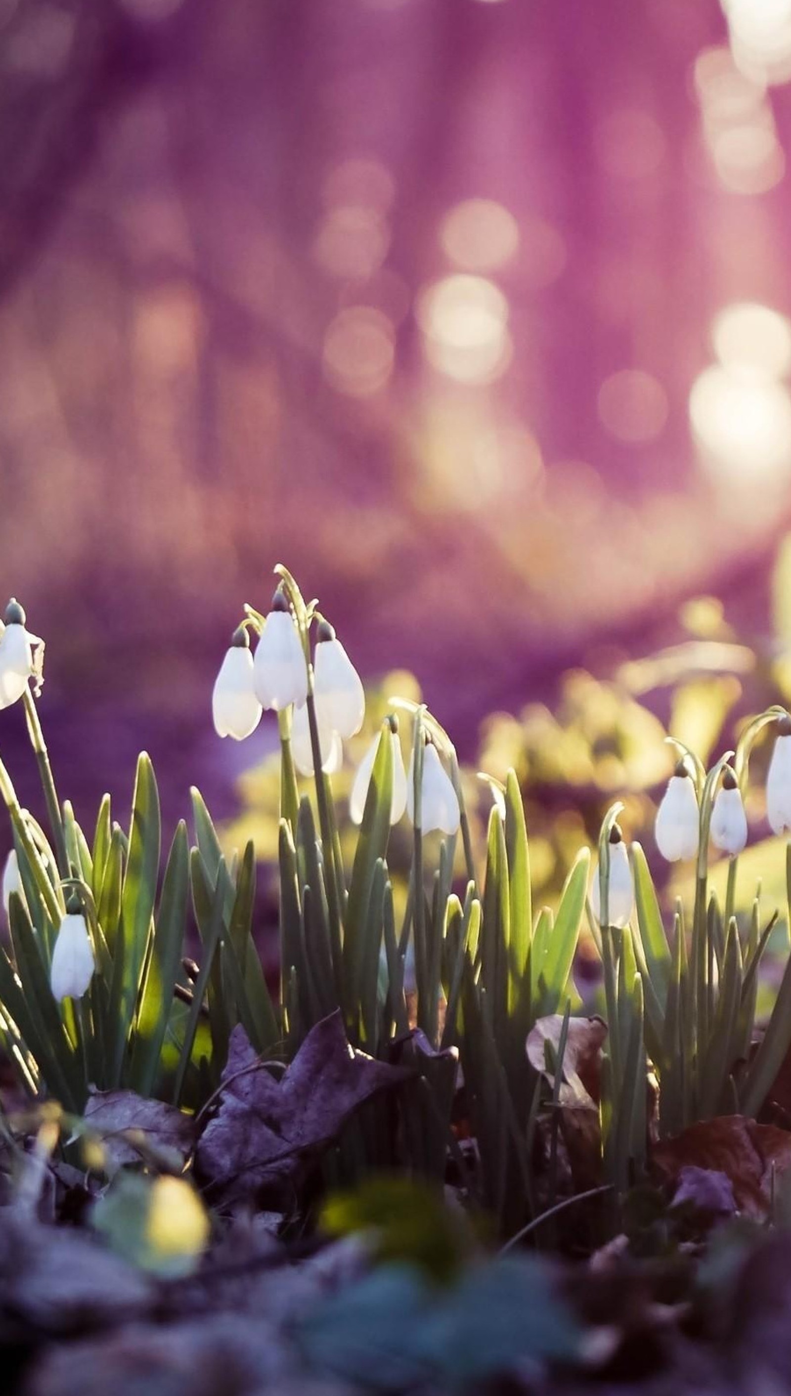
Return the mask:
[[201, 1135], [195, 1159], [212, 1201], [251, 1201], [293, 1184], [363, 1101], [413, 1075], [353, 1051], [335, 1012], [311, 1027], [286, 1074], [275, 1081], [237, 1025], [220, 1078], [220, 1106]]

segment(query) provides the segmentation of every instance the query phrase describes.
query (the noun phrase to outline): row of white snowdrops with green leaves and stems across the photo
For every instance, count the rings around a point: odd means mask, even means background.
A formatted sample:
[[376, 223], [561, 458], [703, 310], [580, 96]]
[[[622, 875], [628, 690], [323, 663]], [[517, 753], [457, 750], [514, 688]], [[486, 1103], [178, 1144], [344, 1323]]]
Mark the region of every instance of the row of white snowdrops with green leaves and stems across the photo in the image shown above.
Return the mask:
[[[398, 695], [354, 778], [349, 814], [359, 833], [347, 871], [332, 775], [343, 743], [364, 727], [366, 695], [332, 624], [286, 568], [275, 571], [269, 611], [244, 609], [212, 698], [218, 733], [236, 740], [264, 711], [278, 715], [275, 995], [253, 937], [253, 845], [229, 856], [193, 790], [194, 842], [180, 824], [162, 871], [145, 754], [128, 835], [105, 797], [86, 838], [60, 803], [46, 755], [36, 708], [42, 642], [21, 607], [6, 611], [0, 708], [25, 705], [49, 818], [46, 835], [0, 762], [14, 832], [3, 879], [10, 945], [0, 952], [0, 1033], [29, 1094], [80, 1110], [92, 1087], [130, 1086], [197, 1108], [216, 1089], [237, 1023], [259, 1054], [290, 1060], [310, 1029], [339, 1011], [350, 1047], [407, 1062], [414, 1078], [399, 1100], [398, 1128], [389, 1106], [371, 1103], [328, 1160], [331, 1175], [399, 1164], [442, 1180], [451, 1164], [513, 1233], [536, 1210], [537, 1125], [573, 1078], [564, 1057], [587, 906], [608, 1026], [598, 1100], [589, 1100], [601, 1177], [625, 1189], [657, 1132], [717, 1113], [758, 1113], [791, 1043], [791, 972], [755, 1051], [758, 970], [777, 913], [763, 921], [756, 896], [739, 924], [737, 870], [748, 836], [749, 752], [767, 726], [777, 733], [769, 817], [776, 832], [791, 826], [784, 709], [755, 719], [709, 772], [681, 750], [656, 840], [663, 857], [693, 860], [695, 900], [691, 910], [677, 905], [668, 927], [646, 856], [622, 838], [618, 804], [601, 829], [593, 882], [583, 847], [557, 906], [534, 913], [522, 796], [509, 772], [502, 785], [490, 782], [485, 859], [476, 866], [452, 741], [424, 705]], [[388, 849], [403, 818], [412, 860], [406, 898], [398, 898]], [[709, 891], [710, 842], [731, 860], [723, 906]], [[197, 963], [183, 958], [190, 909]], [[559, 1029], [545, 1034], [544, 1062], [534, 1051], [529, 1058], [527, 1040], [552, 1019]], [[474, 1149], [460, 1148], [465, 1134]]]

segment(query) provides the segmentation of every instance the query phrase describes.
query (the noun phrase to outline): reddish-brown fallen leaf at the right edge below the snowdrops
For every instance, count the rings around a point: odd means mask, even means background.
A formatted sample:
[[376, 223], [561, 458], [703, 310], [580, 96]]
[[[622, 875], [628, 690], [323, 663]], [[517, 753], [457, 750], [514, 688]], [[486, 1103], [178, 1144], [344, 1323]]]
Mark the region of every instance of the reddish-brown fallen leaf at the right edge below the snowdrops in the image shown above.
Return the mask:
[[744, 1115], [721, 1115], [691, 1125], [672, 1139], [660, 1139], [650, 1161], [658, 1181], [674, 1189], [689, 1166], [724, 1173], [739, 1212], [763, 1220], [769, 1216], [773, 1173], [791, 1167], [791, 1132]]

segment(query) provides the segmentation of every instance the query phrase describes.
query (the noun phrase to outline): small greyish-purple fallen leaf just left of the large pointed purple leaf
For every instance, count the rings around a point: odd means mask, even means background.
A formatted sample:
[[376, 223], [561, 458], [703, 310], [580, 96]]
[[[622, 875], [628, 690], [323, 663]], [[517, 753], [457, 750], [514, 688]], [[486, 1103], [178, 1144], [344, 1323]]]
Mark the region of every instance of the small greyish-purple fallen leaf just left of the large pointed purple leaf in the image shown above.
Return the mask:
[[88, 1097], [84, 1118], [102, 1135], [116, 1167], [148, 1161], [153, 1154], [181, 1168], [195, 1142], [190, 1115], [163, 1100], [144, 1100], [134, 1090], [96, 1090]]

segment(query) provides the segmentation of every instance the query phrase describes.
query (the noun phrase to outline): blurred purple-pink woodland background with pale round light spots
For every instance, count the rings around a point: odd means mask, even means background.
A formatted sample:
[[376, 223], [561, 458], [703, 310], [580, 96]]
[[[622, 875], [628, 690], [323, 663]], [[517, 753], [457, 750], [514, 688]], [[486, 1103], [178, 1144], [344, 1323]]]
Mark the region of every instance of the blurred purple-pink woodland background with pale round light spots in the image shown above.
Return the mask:
[[0, 592], [78, 814], [144, 745], [230, 811], [275, 561], [470, 757], [700, 589], [764, 624], [790, 80], [791, 0], [0, 0]]

